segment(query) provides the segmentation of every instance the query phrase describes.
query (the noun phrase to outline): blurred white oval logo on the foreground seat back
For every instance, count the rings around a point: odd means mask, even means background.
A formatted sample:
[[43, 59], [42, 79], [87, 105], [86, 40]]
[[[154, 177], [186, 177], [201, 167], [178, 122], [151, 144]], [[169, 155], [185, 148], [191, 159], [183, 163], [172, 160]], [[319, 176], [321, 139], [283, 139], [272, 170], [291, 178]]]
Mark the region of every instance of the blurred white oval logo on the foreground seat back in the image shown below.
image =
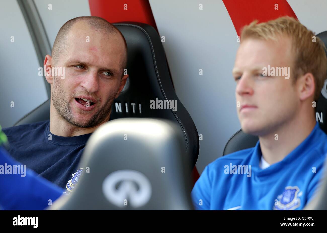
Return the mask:
[[150, 180], [141, 172], [119, 170], [103, 180], [102, 192], [118, 207], [124, 207], [124, 201], [128, 200], [128, 205], [137, 208], [150, 200], [152, 188]]

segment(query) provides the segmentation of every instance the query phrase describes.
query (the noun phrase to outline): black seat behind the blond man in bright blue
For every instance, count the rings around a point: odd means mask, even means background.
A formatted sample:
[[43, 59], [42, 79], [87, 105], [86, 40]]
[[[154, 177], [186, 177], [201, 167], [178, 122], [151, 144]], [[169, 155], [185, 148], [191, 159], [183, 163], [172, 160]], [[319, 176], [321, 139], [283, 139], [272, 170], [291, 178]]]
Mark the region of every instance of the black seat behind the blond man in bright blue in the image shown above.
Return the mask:
[[[317, 36], [327, 47], [327, 31], [319, 33]], [[322, 88], [317, 101], [316, 119], [319, 122], [320, 128], [327, 133], [327, 80], [325, 81], [325, 85]], [[254, 147], [258, 140], [259, 138], [257, 136], [246, 134], [242, 129], [240, 129], [227, 141], [223, 151], [223, 156], [238, 150]]]

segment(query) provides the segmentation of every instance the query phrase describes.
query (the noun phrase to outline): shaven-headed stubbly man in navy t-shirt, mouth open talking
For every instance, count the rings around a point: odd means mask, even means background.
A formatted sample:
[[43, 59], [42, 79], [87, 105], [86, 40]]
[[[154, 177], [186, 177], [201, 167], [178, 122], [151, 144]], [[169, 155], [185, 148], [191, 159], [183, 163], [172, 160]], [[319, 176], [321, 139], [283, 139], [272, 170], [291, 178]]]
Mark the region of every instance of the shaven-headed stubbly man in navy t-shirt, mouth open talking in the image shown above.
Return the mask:
[[113, 100], [128, 75], [127, 45], [121, 32], [105, 19], [77, 17], [66, 22], [46, 55], [51, 85], [50, 120], [3, 129], [15, 160], [71, 192], [83, 169], [78, 167], [91, 133], [107, 122]]

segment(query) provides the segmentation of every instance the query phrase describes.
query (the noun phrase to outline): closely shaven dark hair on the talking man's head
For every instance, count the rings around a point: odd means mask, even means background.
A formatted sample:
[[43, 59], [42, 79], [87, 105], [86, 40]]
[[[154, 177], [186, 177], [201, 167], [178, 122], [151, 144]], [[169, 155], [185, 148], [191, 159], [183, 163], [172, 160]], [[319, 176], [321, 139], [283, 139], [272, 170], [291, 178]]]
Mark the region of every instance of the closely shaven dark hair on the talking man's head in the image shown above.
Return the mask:
[[51, 56], [54, 62], [55, 63], [58, 62], [61, 52], [67, 48], [66, 36], [68, 35], [72, 26], [78, 21], [87, 22], [88, 25], [90, 25], [92, 28], [94, 28], [97, 31], [101, 31], [105, 35], [121, 35], [125, 44], [125, 58], [123, 62], [123, 69], [125, 69], [127, 66], [127, 44], [123, 34], [107, 20], [97, 16], [76, 17], [74, 19], [68, 20], [66, 23], [64, 23], [61, 26], [56, 36], [55, 42], [53, 43], [52, 52], [51, 52]]

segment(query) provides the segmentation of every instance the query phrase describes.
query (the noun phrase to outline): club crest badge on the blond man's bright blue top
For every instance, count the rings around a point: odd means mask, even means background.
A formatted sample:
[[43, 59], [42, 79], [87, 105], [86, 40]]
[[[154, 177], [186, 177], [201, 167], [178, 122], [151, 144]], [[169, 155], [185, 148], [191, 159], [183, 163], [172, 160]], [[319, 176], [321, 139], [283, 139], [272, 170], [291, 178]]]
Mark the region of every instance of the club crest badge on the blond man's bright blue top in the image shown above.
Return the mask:
[[275, 203], [274, 210], [295, 210], [301, 204], [300, 192], [298, 186], [287, 186], [283, 194], [278, 195], [278, 201]]

